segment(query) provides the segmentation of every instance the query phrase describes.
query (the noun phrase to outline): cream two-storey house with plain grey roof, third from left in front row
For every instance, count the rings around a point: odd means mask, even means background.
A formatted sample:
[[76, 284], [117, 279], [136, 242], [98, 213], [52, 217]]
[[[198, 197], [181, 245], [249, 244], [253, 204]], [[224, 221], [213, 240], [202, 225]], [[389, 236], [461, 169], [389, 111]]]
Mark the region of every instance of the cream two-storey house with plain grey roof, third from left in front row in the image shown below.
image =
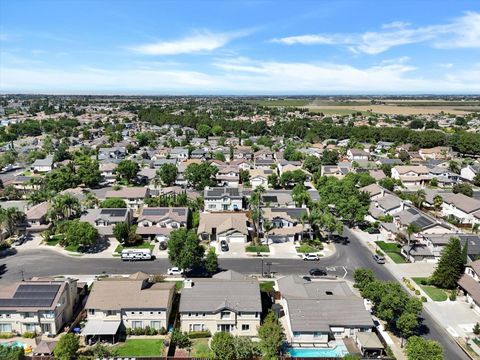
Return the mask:
[[187, 280], [180, 298], [180, 330], [218, 331], [235, 336], [257, 336], [262, 300], [257, 280]]

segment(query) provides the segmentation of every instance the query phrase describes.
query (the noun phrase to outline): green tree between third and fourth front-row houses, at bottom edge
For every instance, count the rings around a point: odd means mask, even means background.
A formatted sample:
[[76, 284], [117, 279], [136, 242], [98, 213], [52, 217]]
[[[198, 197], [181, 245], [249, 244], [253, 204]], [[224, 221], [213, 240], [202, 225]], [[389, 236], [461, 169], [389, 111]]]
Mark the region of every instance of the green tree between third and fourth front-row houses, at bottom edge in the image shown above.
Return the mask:
[[269, 311], [265, 317], [263, 324], [258, 328], [258, 337], [260, 339], [258, 347], [263, 359], [277, 359], [285, 342], [285, 333], [274, 312]]

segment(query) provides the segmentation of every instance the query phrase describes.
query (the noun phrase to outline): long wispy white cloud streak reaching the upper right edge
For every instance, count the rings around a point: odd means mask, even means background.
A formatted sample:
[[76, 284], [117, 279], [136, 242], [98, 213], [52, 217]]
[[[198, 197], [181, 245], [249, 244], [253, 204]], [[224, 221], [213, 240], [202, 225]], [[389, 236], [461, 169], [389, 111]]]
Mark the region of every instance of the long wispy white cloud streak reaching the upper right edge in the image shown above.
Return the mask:
[[272, 39], [285, 45], [346, 45], [354, 53], [379, 54], [392, 47], [430, 42], [438, 48], [480, 47], [480, 13], [467, 12], [453, 21], [424, 27], [405, 22], [384, 24], [382, 31], [356, 34], [306, 34]]

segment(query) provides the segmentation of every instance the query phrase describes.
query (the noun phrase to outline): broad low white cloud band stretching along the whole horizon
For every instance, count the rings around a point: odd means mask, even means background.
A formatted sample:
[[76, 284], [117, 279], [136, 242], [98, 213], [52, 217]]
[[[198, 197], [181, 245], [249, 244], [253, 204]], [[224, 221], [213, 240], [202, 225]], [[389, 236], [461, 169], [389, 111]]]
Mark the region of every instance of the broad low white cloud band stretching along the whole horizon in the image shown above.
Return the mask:
[[[217, 59], [213, 71], [135, 67], [0, 68], [5, 92], [149, 94], [480, 93], [480, 65], [425, 78], [405, 59], [376, 66]], [[157, 68], [157, 69], [158, 69]]]

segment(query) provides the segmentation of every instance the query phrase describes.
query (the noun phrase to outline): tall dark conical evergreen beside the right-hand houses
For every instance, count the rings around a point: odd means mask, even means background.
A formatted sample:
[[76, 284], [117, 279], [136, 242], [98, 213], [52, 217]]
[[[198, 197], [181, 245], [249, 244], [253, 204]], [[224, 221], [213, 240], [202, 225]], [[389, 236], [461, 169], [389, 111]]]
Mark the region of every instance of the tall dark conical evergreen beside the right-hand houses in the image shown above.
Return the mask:
[[432, 283], [440, 288], [454, 289], [463, 273], [463, 267], [460, 239], [452, 237], [442, 250], [442, 255], [432, 275]]

